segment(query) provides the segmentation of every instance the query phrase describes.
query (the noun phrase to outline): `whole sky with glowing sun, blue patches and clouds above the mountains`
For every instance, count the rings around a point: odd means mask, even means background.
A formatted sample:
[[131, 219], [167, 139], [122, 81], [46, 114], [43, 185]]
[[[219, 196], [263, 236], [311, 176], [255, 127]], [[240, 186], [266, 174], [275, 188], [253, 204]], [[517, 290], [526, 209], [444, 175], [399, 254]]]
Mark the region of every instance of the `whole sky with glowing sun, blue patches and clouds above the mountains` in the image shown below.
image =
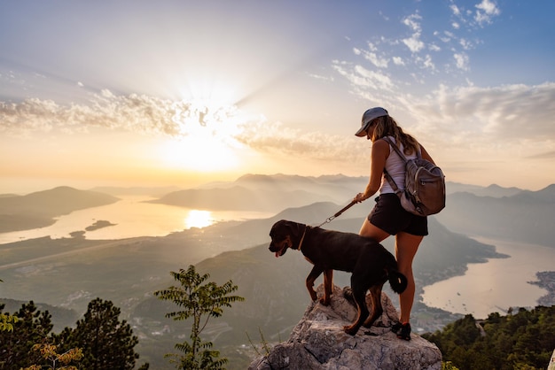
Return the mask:
[[[555, 2], [0, 0], [0, 194], [368, 176], [382, 106], [447, 181], [555, 183]], [[362, 191], [363, 189], [361, 189]]]

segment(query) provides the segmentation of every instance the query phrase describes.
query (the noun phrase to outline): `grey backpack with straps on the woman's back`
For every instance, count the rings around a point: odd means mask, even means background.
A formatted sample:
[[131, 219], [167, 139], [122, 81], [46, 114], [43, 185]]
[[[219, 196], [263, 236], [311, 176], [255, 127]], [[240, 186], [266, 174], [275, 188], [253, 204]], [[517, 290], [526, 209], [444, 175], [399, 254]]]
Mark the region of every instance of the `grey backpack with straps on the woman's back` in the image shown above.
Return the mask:
[[442, 169], [422, 158], [418, 150], [417, 158], [407, 159], [395, 143], [384, 137], [405, 162], [404, 190], [399, 189], [393, 178], [384, 169], [387, 181], [401, 199], [401, 205], [408, 212], [418, 216], [428, 216], [445, 208], [445, 176]]

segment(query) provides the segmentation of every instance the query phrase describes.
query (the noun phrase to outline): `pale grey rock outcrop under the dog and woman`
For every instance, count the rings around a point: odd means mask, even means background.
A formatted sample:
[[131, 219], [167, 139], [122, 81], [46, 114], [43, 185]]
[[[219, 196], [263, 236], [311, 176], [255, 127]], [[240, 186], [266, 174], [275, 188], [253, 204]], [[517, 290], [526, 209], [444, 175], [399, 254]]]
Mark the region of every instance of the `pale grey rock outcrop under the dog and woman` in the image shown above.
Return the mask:
[[[323, 289], [322, 285], [318, 287], [319, 297]], [[370, 308], [370, 296], [366, 301]], [[329, 306], [309, 304], [289, 340], [274, 346], [267, 356], [256, 358], [249, 370], [441, 369], [442, 353], [435, 344], [415, 334], [410, 341], [403, 341], [391, 332], [398, 314], [385, 293], [381, 302], [384, 313], [374, 325], [348, 335], [343, 326], [355, 320], [356, 307], [334, 286]]]

